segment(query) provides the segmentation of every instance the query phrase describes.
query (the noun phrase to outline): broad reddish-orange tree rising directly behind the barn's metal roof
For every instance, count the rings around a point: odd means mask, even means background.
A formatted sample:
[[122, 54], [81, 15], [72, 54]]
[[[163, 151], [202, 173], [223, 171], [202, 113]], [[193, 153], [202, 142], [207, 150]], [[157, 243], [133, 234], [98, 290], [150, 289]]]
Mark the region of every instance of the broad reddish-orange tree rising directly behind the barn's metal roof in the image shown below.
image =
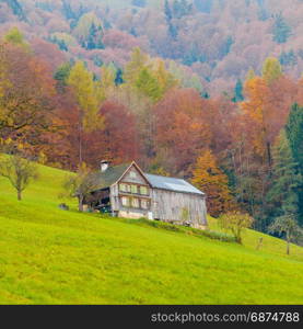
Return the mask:
[[194, 89], [173, 90], [154, 107], [158, 156], [171, 172], [188, 173], [210, 145], [208, 111], [209, 102]]

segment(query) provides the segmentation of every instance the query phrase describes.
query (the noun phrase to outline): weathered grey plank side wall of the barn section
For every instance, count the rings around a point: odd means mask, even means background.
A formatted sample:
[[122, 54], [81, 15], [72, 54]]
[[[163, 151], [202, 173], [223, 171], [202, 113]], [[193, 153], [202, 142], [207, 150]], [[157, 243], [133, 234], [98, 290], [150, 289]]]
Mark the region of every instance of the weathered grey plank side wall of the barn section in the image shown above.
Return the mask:
[[207, 225], [207, 207], [203, 196], [152, 189], [152, 212], [155, 219], [163, 222], [183, 222], [183, 209], [189, 212], [188, 222], [193, 226]]

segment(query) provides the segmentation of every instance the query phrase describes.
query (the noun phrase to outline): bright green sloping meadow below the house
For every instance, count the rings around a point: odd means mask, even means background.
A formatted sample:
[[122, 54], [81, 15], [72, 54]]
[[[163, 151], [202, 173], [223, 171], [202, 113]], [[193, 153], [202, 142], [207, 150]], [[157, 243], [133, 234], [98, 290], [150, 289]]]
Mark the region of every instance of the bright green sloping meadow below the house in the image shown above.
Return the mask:
[[302, 248], [287, 257], [267, 236], [256, 251], [254, 231], [241, 247], [62, 212], [65, 175], [40, 167], [22, 202], [0, 178], [0, 304], [303, 304]]

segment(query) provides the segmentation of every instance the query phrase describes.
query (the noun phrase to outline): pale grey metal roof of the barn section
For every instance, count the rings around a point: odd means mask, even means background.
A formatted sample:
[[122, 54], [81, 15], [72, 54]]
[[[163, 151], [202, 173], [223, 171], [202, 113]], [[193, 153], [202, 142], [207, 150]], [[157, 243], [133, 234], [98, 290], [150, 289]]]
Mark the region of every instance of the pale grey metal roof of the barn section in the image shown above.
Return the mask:
[[196, 189], [183, 179], [176, 179], [171, 177], [163, 177], [156, 174], [145, 173], [145, 177], [151, 182], [152, 186], [161, 190], [168, 190], [174, 192], [194, 193], [205, 195], [203, 192]]

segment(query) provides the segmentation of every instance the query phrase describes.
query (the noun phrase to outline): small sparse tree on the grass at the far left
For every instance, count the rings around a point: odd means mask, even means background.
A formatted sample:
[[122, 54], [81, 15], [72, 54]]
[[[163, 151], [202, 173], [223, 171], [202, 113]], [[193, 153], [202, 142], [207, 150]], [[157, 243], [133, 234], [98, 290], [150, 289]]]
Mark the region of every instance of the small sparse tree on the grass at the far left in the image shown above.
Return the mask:
[[11, 182], [16, 190], [18, 200], [22, 200], [22, 192], [28, 186], [31, 181], [38, 177], [37, 166], [20, 155], [3, 157], [0, 160], [0, 174]]

